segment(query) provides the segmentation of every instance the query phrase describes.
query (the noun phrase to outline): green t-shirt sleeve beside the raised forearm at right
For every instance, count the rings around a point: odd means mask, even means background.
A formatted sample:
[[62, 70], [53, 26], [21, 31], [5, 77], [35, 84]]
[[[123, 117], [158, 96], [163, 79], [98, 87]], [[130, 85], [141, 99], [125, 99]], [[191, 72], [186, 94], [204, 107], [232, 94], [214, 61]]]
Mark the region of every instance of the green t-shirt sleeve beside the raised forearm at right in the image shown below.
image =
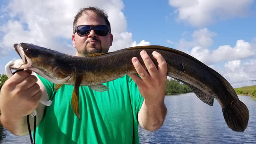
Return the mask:
[[133, 114], [136, 115], [136, 121], [138, 122], [138, 114], [143, 103], [144, 98], [141, 96], [137, 84], [131, 79], [130, 76], [127, 76], [129, 93], [131, 98], [131, 104], [133, 108]]

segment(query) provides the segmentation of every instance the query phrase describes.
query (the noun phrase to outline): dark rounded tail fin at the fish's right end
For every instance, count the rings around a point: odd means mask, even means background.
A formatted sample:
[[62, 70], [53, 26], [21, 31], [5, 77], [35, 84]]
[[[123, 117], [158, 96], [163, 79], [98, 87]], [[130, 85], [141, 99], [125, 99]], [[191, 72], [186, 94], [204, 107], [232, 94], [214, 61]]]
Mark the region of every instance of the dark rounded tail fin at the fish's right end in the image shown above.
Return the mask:
[[244, 132], [249, 121], [249, 110], [240, 100], [233, 100], [228, 107], [222, 108], [228, 127], [236, 132]]

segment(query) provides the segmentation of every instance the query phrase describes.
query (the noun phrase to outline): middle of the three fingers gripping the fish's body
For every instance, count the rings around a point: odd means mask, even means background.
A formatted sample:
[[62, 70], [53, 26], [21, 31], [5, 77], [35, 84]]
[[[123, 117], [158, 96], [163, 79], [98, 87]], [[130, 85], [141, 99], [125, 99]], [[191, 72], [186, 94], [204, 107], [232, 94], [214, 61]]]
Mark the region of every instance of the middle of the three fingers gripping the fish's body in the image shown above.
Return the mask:
[[149, 55], [147, 54], [146, 51], [141, 51], [140, 52], [140, 56], [146, 66], [146, 68], [148, 69], [148, 73], [150, 76], [152, 77], [157, 77], [158, 75], [158, 70], [156, 69], [155, 64], [153, 63], [153, 61], [151, 60], [151, 58], [149, 57]]

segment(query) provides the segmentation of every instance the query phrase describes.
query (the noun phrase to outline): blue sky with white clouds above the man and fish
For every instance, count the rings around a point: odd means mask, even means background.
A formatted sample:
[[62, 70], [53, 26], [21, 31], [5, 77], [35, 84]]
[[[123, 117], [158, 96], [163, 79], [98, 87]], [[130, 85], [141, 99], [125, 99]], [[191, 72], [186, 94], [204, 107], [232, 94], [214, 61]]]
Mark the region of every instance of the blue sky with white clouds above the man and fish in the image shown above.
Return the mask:
[[15, 43], [75, 55], [72, 23], [87, 6], [108, 13], [114, 36], [110, 52], [161, 45], [202, 61], [235, 88], [256, 80], [255, 0], [1, 0], [0, 74], [7, 62], [20, 59]]

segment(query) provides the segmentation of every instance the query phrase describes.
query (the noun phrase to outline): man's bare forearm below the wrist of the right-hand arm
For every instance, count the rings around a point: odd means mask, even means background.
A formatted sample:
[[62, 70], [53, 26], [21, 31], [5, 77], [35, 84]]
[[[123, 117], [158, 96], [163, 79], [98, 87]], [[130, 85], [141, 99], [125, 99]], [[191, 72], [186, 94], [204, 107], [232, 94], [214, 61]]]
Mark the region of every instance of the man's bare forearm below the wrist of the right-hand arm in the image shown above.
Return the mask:
[[157, 103], [144, 100], [138, 115], [140, 126], [148, 131], [156, 131], [163, 125], [166, 114], [164, 101]]

